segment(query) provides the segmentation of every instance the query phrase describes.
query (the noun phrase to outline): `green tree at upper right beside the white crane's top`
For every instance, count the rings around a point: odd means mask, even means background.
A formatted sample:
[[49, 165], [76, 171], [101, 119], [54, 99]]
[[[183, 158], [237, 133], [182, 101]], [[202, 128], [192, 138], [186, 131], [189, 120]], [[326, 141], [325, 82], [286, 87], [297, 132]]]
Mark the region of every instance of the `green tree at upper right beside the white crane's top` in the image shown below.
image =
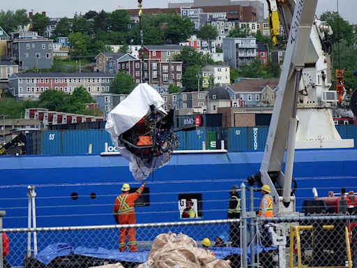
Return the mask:
[[322, 13], [320, 20], [328, 22], [333, 30], [333, 43], [339, 40], [346, 40], [347, 43], [353, 44], [354, 34], [353, 27], [347, 20], [344, 20], [337, 12], [327, 11]]

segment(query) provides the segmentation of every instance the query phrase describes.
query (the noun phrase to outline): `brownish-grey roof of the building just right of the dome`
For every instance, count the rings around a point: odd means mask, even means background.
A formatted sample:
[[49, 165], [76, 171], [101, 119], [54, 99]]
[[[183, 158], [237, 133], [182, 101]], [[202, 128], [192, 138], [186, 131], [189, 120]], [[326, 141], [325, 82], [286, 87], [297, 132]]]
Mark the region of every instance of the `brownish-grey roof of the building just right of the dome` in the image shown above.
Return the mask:
[[247, 79], [241, 80], [236, 84], [232, 84], [230, 88], [234, 92], [260, 92], [264, 87], [268, 86], [274, 89], [279, 84], [279, 78], [269, 79]]

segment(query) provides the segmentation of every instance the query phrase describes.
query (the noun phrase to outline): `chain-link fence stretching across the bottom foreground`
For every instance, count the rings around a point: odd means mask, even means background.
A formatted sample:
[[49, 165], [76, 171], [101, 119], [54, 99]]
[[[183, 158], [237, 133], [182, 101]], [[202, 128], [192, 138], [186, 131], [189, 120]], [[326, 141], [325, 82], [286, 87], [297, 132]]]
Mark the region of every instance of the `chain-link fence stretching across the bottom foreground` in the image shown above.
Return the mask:
[[[357, 267], [357, 216], [324, 215], [222, 221], [185, 221], [137, 225], [3, 229], [10, 241], [4, 267], [96, 267], [120, 262], [137, 267], [153, 257], [159, 234], [185, 234], [203, 248], [208, 259], [229, 260], [229, 267]], [[119, 234], [135, 231], [136, 252], [119, 251]], [[130, 231], [131, 230], [131, 231]], [[238, 236], [241, 230], [241, 235]], [[132, 237], [130, 240], [133, 240]], [[189, 246], [189, 243], [186, 243]], [[207, 244], [205, 244], [207, 246]], [[192, 247], [171, 247], [165, 258], [177, 267], [209, 267]], [[165, 248], [161, 244], [162, 250]], [[132, 249], [132, 248], [131, 248]], [[176, 251], [177, 250], [177, 251]], [[190, 253], [188, 253], [190, 252]], [[194, 253], [192, 253], [194, 252]], [[172, 253], [170, 255], [169, 253]], [[163, 253], [162, 253], [163, 254]], [[195, 255], [196, 254], [196, 255]], [[190, 262], [190, 265], [188, 265]], [[228, 262], [225, 262], [228, 264]], [[151, 262], [152, 265], [152, 262]], [[207, 265], [207, 266], [204, 266]], [[155, 263], [155, 266], [170, 267]], [[212, 266], [213, 267], [213, 266]], [[226, 267], [226, 266], [215, 266]]]

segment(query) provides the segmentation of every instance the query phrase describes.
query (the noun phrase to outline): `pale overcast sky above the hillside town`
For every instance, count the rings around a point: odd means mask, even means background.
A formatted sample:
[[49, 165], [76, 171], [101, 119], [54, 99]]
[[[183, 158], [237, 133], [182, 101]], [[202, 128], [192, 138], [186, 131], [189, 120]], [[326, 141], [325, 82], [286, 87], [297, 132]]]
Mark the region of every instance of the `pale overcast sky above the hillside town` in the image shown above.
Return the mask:
[[[143, 7], [167, 8], [167, 2], [169, 1], [175, 3], [193, 2], [193, 0], [143, 0]], [[319, 0], [319, 3], [317, 4], [317, 15], [320, 15], [325, 11], [337, 11], [337, 1], [341, 17], [351, 23], [357, 23], [357, 0]], [[265, 3], [265, 1], [262, 2]], [[107, 12], [112, 12], [112, 10], [117, 8], [137, 7], [136, 0], [0, 0], [0, 3], [0, 9], [2, 10], [26, 8], [28, 11], [33, 10], [34, 13], [46, 11], [47, 16], [49, 17], [73, 17], [75, 12], [84, 14], [88, 10], [100, 11], [102, 9]]]

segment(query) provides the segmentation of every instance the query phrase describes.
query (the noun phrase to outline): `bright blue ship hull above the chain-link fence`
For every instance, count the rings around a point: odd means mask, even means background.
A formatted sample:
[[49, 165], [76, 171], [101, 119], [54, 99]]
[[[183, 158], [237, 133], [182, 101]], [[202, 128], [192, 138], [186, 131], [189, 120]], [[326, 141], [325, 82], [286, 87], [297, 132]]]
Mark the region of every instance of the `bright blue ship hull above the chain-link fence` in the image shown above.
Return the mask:
[[[146, 181], [149, 202], [136, 207], [137, 223], [183, 221], [179, 199], [201, 199], [203, 220], [227, 218], [229, 188], [259, 171], [262, 151], [213, 154], [174, 154], [169, 164]], [[357, 189], [357, 149], [296, 151], [294, 177], [298, 182], [296, 210], [312, 198], [340, 188]], [[4, 228], [27, 226], [27, 186], [36, 186], [39, 227], [114, 224], [112, 205], [121, 185], [132, 179], [121, 156], [16, 156], [0, 161], [0, 210]], [[77, 196], [77, 198], [75, 198]], [[258, 206], [259, 193], [255, 196]]]

